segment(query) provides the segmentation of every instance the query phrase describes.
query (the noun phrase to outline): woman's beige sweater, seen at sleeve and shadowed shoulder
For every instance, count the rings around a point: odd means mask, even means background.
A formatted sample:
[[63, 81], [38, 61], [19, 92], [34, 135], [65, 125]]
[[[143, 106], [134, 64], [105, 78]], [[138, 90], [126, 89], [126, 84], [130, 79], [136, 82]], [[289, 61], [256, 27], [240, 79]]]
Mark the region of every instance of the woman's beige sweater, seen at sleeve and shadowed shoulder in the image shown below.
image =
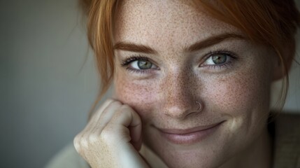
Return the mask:
[[[273, 168], [300, 168], [300, 115], [282, 113], [269, 126], [274, 140]], [[76, 152], [73, 144], [66, 146], [46, 166], [46, 168], [66, 167], [90, 168]]]

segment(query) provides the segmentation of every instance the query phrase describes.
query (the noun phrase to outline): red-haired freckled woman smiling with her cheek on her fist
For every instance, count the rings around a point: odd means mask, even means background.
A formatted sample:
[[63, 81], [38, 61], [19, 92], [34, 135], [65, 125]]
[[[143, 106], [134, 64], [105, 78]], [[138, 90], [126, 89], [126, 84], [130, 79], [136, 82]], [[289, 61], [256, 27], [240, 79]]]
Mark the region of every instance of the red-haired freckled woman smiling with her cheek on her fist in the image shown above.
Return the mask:
[[268, 125], [271, 83], [294, 57], [293, 1], [85, 5], [100, 97], [115, 91], [74, 139], [91, 167], [300, 166], [299, 133], [282, 158], [287, 130]]

